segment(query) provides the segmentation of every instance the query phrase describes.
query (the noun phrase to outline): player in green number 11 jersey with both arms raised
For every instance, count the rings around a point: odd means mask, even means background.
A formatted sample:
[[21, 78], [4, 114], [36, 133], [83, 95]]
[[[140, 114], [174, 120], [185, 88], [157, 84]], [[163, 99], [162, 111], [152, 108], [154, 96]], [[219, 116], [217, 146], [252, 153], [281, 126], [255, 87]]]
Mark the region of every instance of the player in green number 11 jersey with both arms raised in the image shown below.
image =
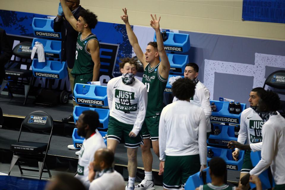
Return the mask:
[[[126, 24], [129, 41], [134, 49], [137, 58], [143, 64], [143, 83], [148, 91], [148, 105], [146, 109], [145, 121], [142, 127], [144, 145], [142, 148], [143, 165], [145, 169], [145, 179], [135, 189], [154, 189], [152, 181], [152, 161], [151, 143], [154, 153], [159, 157], [158, 126], [160, 113], [163, 108], [163, 92], [167, 83], [170, 63], [164, 50], [163, 40], [159, 29], [159, 19], [156, 15], [151, 15], [150, 25], [156, 32], [156, 41], [149, 42], [145, 53], [141, 49], [137, 37], [129, 24], [127, 9], [124, 8], [124, 15], [121, 19]], [[160, 61], [160, 60], [161, 61]], [[151, 138], [151, 140], [150, 140]]]

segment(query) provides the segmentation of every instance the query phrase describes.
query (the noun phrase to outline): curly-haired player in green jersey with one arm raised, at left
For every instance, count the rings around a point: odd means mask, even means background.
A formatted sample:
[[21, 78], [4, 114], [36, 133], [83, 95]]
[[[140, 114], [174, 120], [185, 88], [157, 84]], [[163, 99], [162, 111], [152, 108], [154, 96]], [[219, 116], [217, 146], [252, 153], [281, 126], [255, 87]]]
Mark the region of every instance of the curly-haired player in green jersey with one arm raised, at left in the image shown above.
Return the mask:
[[97, 24], [97, 16], [88, 9], [81, 10], [78, 20], [75, 19], [65, 0], [60, 0], [66, 20], [79, 32], [76, 43], [75, 63], [71, 74], [75, 76], [76, 83], [97, 81], [100, 70], [100, 45], [94, 29]]

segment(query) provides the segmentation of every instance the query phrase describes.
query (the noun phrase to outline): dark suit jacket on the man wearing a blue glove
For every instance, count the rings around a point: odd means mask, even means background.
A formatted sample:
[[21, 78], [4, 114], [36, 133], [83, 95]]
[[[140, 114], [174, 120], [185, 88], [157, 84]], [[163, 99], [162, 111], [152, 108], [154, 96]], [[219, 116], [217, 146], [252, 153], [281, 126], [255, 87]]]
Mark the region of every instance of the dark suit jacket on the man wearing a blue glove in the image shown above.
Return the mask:
[[[79, 18], [81, 9], [84, 8], [79, 5], [73, 14], [76, 20]], [[64, 14], [59, 18], [58, 22], [56, 22], [56, 18], [53, 20], [53, 31], [61, 32], [61, 61], [67, 61], [68, 67], [72, 69], [74, 66], [78, 32], [72, 28]]]

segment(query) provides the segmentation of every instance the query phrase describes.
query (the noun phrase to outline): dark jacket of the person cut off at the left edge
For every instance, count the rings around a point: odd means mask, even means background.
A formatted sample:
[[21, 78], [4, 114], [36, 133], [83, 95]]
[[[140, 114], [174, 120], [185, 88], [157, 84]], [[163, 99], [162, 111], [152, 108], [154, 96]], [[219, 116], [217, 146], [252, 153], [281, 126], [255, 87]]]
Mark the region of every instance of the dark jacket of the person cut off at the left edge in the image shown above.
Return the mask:
[[0, 81], [5, 77], [5, 64], [12, 56], [12, 48], [8, 43], [5, 30], [0, 28]]

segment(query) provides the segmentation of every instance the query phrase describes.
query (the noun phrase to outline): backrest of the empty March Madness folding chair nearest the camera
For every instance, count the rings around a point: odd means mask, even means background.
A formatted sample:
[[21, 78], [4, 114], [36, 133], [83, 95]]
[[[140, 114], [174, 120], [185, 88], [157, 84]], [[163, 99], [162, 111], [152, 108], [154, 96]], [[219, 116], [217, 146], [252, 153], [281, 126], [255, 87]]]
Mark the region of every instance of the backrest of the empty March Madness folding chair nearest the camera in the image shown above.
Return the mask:
[[24, 118], [22, 126], [34, 131], [51, 130], [53, 128], [53, 118], [44, 111], [34, 111]]

